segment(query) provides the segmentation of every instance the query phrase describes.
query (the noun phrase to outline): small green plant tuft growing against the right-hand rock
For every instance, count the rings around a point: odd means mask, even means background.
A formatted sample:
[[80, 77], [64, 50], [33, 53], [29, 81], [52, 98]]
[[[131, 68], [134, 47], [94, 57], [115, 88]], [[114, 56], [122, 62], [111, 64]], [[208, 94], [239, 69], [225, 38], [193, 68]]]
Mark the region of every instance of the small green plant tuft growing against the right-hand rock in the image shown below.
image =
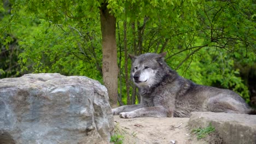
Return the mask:
[[202, 138], [205, 138], [207, 135], [213, 133], [214, 131], [215, 131], [215, 128], [212, 127], [212, 124], [210, 123], [209, 126], [206, 128], [193, 129], [192, 133], [197, 135], [197, 140], [200, 140]]

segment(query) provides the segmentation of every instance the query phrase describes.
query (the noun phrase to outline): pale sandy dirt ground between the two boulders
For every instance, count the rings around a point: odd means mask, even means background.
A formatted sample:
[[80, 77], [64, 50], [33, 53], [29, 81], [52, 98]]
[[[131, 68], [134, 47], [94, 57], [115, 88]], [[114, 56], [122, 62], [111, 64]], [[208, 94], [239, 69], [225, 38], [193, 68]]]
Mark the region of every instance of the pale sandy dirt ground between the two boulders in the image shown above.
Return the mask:
[[123, 143], [205, 143], [197, 141], [188, 129], [189, 118], [139, 117], [124, 119], [114, 116], [115, 130]]

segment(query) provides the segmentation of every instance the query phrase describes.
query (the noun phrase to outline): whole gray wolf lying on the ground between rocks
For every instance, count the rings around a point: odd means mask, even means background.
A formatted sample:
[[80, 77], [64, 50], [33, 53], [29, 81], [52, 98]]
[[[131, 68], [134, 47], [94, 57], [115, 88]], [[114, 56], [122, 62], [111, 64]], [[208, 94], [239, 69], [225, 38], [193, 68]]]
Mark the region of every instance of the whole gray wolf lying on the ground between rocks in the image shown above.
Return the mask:
[[121, 118], [190, 117], [193, 111], [249, 113], [240, 95], [196, 83], [179, 76], [164, 61], [166, 53], [132, 56], [131, 79], [141, 95], [141, 104], [112, 109]]

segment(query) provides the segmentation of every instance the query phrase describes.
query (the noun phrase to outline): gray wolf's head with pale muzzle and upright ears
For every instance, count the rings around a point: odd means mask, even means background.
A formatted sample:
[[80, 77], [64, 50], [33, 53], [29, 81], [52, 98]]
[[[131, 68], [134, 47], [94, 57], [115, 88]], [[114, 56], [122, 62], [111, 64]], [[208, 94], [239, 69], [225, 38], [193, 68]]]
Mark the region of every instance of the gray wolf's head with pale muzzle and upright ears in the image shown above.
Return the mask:
[[137, 87], [152, 87], [162, 80], [162, 77], [166, 75], [165, 55], [166, 53], [129, 55], [132, 59], [131, 78]]

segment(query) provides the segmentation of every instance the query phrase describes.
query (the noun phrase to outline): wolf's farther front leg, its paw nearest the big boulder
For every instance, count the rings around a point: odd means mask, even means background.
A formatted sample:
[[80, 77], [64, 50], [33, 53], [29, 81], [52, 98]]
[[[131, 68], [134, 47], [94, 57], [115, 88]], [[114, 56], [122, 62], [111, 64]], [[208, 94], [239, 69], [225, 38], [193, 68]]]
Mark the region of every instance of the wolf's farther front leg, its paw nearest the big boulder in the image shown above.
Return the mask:
[[119, 115], [120, 112], [134, 111], [134, 110], [140, 109], [142, 107], [145, 107], [145, 105], [143, 105], [143, 104], [123, 105], [123, 106], [117, 107], [115, 109], [112, 109], [112, 113], [113, 113], [113, 115]]

